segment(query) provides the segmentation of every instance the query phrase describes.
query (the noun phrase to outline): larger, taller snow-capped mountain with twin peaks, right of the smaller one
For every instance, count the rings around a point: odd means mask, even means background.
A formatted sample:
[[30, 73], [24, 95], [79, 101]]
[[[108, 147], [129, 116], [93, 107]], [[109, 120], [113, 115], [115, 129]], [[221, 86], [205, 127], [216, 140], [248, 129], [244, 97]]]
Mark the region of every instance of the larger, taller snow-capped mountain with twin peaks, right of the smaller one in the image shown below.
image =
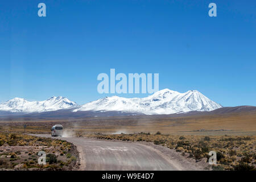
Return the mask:
[[174, 114], [188, 111], [212, 111], [222, 107], [197, 90], [179, 93], [160, 90], [144, 98], [105, 97], [79, 106], [73, 111], [124, 111], [144, 114]]

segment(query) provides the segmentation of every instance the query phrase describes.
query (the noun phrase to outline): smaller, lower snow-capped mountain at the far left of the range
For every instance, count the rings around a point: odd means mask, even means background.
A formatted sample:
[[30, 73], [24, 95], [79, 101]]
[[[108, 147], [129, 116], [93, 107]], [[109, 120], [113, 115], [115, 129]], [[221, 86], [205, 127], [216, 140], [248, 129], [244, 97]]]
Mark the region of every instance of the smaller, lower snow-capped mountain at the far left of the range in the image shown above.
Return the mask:
[[69, 101], [65, 97], [51, 97], [46, 101], [27, 101], [24, 98], [14, 98], [0, 104], [0, 110], [12, 113], [42, 113], [44, 111], [54, 111], [59, 109], [69, 109], [76, 107], [76, 102]]

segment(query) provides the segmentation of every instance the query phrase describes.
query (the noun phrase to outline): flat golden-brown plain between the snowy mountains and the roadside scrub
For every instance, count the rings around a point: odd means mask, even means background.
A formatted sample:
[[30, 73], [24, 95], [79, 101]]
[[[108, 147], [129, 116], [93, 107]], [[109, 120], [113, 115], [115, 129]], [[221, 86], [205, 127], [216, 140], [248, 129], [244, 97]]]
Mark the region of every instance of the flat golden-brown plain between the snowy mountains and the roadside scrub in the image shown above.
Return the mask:
[[171, 135], [256, 135], [256, 110], [232, 113], [135, 115], [91, 118], [0, 119], [1, 131], [48, 133], [55, 124], [76, 134], [156, 133]]

